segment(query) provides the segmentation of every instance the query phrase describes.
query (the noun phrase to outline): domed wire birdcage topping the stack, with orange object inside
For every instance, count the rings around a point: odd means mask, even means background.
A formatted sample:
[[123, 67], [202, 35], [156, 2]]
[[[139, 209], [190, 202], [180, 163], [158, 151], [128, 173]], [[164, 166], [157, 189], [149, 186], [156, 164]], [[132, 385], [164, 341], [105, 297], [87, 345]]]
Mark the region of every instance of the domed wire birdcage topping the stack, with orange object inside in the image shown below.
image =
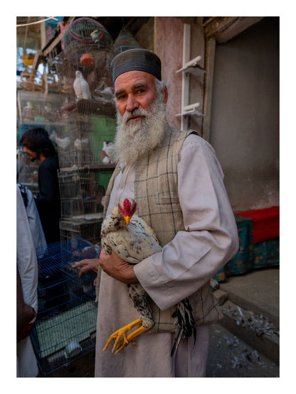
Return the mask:
[[82, 72], [83, 79], [88, 82], [94, 102], [112, 102], [112, 94], [109, 92], [109, 97], [107, 94], [112, 88], [112, 46], [110, 34], [94, 19], [78, 18], [70, 24], [63, 35], [63, 50], [56, 58], [65, 111], [75, 99], [73, 82], [76, 71]]

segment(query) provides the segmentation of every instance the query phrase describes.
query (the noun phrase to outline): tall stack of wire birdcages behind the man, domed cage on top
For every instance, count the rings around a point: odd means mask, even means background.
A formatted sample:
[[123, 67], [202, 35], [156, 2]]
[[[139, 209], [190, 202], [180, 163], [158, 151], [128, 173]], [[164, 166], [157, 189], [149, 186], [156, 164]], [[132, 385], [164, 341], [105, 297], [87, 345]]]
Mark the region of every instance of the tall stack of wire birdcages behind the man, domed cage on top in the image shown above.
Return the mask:
[[[79, 18], [65, 31], [63, 50], [54, 61], [63, 121], [51, 136], [60, 163], [61, 240], [82, 236], [100, 241], [102, 198], [115, 168], [102, 154], [104, 141], [114, 141], [116, 130], [112, 44], [100, 23]], [[87, 99], [75, 94], [77, 71], [88, 84]]]

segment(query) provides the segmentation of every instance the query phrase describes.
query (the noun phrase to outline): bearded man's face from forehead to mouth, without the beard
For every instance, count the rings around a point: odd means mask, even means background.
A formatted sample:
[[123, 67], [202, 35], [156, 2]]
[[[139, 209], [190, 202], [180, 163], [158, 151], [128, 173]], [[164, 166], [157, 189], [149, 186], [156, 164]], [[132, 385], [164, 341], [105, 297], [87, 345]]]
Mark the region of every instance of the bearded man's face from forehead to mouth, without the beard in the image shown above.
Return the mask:
[[154, 102], [157, 97], [154, 76], [143, 71], [124, 72], [115, 80], [115, 97], [120, 115], [130, 112], [127, 123], [142, 119], [144, 115], [133, 115], [132, 111], [139, 107], [148, 110]]

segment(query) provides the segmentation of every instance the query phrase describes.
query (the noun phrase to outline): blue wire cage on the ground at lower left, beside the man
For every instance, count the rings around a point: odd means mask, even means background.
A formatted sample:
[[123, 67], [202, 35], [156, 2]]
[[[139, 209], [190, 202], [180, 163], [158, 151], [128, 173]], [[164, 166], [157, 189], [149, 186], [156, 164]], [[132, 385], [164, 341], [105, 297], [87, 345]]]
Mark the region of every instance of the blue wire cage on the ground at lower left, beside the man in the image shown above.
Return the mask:
[[99, 254], [99, 246], [76, 237], [51, 243], [38, 259], [38, 315], [31, 341], [43, 376], [95, 349], [96, 273], [79, 278], [72, 266]]

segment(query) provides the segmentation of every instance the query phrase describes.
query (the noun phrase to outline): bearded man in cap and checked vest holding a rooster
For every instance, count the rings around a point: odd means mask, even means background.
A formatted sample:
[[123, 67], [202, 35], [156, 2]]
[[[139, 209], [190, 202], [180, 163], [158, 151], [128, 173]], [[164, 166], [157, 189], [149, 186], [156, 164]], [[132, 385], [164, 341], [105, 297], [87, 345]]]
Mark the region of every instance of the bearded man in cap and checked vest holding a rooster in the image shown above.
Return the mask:
[[[211, 277], [238, 251], [238, 232], [213, 148], [195, 131], [176, 131], [166, 121], [167, 89], [161, 62], [149, 50], [127, 50], [111, 63], [117, 104], [118, 164], [106, 192], [105, 214], [123, 197], [152, 226], [162, 251], [135, 266], [114, 252], [76, 263], [80, 275], [102, 268], [98, 298], [95, 376], [206, 376], [209, 324], [222, 317]], [[104, 351], [118, 327], [137, 319], [127, 283], [140, 283], [152, 299], [154, 327], [137, 346], [116, 356]], [[197, 327], [174, 356], [177, 302], [189, 297]]]

